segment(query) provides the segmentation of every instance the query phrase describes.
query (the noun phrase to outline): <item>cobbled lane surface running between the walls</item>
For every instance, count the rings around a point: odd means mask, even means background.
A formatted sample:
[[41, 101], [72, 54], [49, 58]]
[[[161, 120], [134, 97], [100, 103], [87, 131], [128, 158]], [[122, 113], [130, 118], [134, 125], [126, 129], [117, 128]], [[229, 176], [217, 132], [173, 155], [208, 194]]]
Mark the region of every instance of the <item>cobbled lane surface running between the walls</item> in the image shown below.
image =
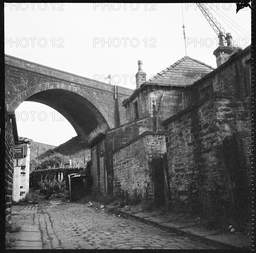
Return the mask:
[[[214, 249], [140, 221], [100, 213], [79, 203], [15, 207], [21, 232], [12, 249]], [[57, 204], [57, 205], [56, 205]], [[15, 211], [16, 210], [16, 211]]]

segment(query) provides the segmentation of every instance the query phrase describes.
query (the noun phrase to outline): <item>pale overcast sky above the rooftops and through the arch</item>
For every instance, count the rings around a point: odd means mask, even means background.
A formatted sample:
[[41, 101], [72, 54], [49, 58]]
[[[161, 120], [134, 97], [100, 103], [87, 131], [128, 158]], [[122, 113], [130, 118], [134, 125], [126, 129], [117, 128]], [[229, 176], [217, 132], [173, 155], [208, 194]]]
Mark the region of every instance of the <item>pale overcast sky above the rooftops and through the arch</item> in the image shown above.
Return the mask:
[[[209, 5], [238, 46], [249, 46], [250, 9]], [[214, 30], [196, 4], [184, 3], [183, 16], [187, 55], [216, 67]], [[150, 78], [185, 56], [182, 25], [181, 4], [6, 3], [5, 53], [99, 81], [110, 74], [134, 89], [138, 59]], [[16, 113], [19, 136], [60, 145], [77, 135], [46, 105], [24, 102]]]

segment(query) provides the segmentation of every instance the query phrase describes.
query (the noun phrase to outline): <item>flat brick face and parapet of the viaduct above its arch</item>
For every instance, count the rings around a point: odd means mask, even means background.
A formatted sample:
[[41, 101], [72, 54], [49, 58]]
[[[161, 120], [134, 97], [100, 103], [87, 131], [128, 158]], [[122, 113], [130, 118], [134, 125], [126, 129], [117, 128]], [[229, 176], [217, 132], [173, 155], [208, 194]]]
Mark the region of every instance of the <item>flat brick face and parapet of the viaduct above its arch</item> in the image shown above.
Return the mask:
[[[115, 109], [113, 85], [49, 68], [16, 57], [5, 57], [5, 97], [7, 108], [21, 93], [33, 86], [48, 82], [59, 82], [85, 91], [92, 100], [94, 99], [101, 104], [107, 116], [112, 122], [115, 122], [113, 113]], [[119, 117], [121, 124], [125, 123], [125, 108], [120, 105], [132, 92], [133, 90], [131, 89], [118, 86]], [[18, 107], [18, 105], [14, 104], [13, 106]]]

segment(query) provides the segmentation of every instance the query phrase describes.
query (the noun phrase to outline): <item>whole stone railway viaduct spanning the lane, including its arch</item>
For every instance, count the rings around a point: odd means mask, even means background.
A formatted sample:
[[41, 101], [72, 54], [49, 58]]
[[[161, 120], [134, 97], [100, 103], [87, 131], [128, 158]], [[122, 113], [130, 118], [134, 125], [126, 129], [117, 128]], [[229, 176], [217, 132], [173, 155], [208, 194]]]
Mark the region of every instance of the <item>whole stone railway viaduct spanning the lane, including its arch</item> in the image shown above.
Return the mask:
[[[109, 85], [17, 57], [5, 56], [5, 97], [9, 114], [24, 101], [46, 104], [62, 114], [81, 143], [97, 125], [125, 123], [121, 106], [133, 90]], [[33, 111], [33, 108], [31, 108]]]

